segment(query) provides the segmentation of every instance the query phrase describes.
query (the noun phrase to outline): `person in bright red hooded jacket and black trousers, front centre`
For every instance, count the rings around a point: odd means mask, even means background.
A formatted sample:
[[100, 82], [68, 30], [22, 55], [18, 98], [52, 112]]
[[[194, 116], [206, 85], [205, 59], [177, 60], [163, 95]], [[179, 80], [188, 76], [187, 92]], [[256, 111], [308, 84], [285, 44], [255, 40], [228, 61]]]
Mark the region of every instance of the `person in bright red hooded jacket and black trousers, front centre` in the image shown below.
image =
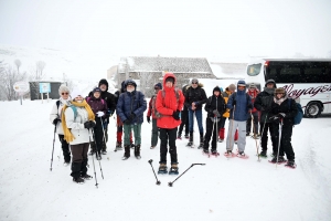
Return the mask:
[[177, 127], [181, 124], [180, 112], [184, 105], [182, 91], [175, 88], [175, 76], [173, 73], [166, 73], [163, 77], [163, 90], [159, 91], [156, 101], [156, 108], [160, 117], [157, 126], [160, 129], [160, 167], [159, 173], [167, 173], [167, 152], [169, 141], [169, 154], [171, 168], [169, 173], [178, 175], [177, 158]]

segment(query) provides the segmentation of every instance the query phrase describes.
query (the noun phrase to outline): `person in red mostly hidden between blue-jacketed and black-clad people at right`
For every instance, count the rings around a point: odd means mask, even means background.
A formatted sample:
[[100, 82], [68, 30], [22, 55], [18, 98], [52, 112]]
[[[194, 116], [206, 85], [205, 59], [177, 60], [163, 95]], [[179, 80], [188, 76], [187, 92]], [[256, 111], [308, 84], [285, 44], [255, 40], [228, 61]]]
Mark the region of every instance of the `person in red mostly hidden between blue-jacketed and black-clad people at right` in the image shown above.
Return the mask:
[[[255, 84], [250, 84], [247, 91], [247, 94], [250, 96], [252, 98], [252, 104], [254, 105], [254, 102], [256, 99], [257, 94], [259, 93], [259, 91], [257, 90]], [[253, 122], [254, 122], [254, 128], [253, 128], [253, 138], [257, 139], [258, 138], [258, 110], [254, 107], [252, 109], [252, 115], [248, 116], [248, 119], [246, 122], [246, 136], [250, 135], [250, 128], [252, 128], [252, 116], [253, 116]]]

